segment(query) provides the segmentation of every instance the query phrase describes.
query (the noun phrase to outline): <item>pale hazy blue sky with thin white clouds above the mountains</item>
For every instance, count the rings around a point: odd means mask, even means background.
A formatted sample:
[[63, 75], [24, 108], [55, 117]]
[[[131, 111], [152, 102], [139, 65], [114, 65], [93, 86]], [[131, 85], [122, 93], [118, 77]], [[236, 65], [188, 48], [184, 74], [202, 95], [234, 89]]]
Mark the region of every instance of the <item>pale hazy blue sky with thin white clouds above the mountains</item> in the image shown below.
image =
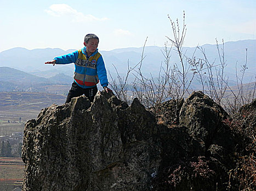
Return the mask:
[[80, 49], [84, 35], [100, 38], [99, 50], [164, 46], [172, 20], [185, 11], [184, 46], [255, 39], [256, 1], [0, 0], [0, 51], [12, 47]]

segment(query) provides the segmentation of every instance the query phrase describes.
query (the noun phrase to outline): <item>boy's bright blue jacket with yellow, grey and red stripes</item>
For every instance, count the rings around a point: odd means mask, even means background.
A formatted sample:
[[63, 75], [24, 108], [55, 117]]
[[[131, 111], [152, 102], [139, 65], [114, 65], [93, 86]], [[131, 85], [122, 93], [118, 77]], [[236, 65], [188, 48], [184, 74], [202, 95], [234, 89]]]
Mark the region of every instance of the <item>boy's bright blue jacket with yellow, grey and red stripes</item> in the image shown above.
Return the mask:
[[99, 83], [99, 80], [103, 87], [109, 84], [103, 57], [98, 49], [89, 58], [87, 58], [86, 47], [84, 47], [54, 59], [56, 64], [75, 63], [74, 80], [82, 88], [94, 87]]

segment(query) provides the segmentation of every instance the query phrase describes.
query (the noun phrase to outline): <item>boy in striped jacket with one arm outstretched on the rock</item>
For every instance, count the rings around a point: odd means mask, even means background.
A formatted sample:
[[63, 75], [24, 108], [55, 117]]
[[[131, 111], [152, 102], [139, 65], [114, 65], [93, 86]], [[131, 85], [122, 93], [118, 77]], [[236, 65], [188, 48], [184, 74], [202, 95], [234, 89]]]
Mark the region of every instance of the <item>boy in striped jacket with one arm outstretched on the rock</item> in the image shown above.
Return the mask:
[[83, 94], [93, 102], [95, 94], [98, 91], [97, 83], [106, 90], [109, 82], [107, 81], [107, 73], [103, 57], [98, 52], [99, 38], [95, 34], [87, 34], [84, 37], [84, 48], [67, 55], [55, 57], [52, 61], [45, 64], [70, 64], [75, 63], [74, 82], [67, 95], [66, 103], [71, 101], [73, 97], [79, 97]]

